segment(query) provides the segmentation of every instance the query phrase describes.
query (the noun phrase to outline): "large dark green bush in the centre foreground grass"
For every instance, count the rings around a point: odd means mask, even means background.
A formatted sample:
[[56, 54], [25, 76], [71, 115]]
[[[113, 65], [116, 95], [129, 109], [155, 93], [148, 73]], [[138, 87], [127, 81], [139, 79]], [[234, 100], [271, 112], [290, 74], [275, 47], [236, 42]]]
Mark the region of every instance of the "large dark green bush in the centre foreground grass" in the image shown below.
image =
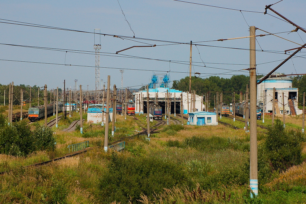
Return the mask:
[[118, 157], [110, 155], [108, 172], [100, 179], [100, 196], [102, 203], [113, 201], [139, 203], [140, 195], [153, 198], [163, 188], [181, 186], [187, 182], [180, 165], [160, 158]]

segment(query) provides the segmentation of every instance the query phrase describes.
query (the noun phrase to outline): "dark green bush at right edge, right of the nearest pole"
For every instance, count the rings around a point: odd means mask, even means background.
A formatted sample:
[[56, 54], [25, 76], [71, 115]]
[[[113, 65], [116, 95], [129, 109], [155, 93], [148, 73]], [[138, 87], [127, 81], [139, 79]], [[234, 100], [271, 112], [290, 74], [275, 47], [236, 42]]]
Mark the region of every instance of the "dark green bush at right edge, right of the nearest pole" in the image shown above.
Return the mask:
[[276, 119], [270, 126], [265, 140], [269, 159], [275, 170], [285, 171], [302, 162], [302, 146], [304, 137], [300, 131], [286, 130], [282, 121]]

